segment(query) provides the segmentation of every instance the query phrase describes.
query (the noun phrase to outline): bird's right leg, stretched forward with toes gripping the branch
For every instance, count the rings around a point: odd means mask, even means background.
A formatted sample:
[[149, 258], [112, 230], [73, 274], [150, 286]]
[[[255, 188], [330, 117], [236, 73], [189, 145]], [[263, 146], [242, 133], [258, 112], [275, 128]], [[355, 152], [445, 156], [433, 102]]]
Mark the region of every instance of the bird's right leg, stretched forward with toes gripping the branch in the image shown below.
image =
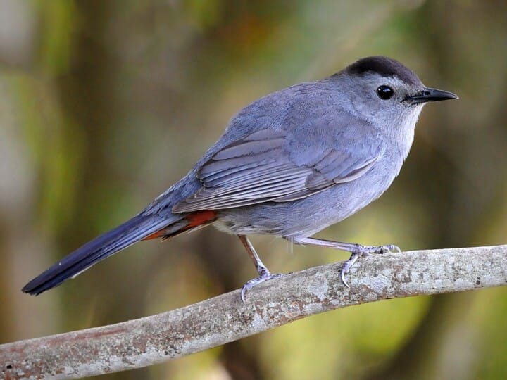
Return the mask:
[[361, 244], [353, 244], [353, 243], [342, 243], [341, 241], [332, 241], [325, 239], [314, 239], [314, 238], [292, 238], [292, 241], [296, 244], [301, 245], [313, 245], [313, 246], [323, 246], [341, 249], [342, 251], [347, 251], [351, 253], [351, 257], [349, 260], [344, 262], [342, 267], [342, 272], [340, 277], [342, 278], [342, 282], [347, 288], [350, 288], [349, 284], [345, 280], [345, 274], [349, 273], [351, 267], [356, 264], [356, 261], [361, 257], [366, 257], [370, 253], [387, 253], [387, 252], [401, 252], [399, 246], [394, 246], [393, 244], [387, 244], [386, 246], [361, 246]]

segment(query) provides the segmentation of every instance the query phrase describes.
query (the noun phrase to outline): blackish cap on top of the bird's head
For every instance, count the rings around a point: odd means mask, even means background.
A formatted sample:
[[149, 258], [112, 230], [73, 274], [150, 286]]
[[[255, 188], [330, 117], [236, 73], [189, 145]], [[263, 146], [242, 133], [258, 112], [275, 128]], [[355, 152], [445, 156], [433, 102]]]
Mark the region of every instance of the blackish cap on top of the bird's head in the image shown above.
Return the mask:
[[382, 77], [399, 77], [400, 80], [414, 86], [421, 85], [419, 77], [411, 69], [395, 59], [384, 56], [362, 58], [349, 65], [344, 71], [352, 75], [375, 72]]

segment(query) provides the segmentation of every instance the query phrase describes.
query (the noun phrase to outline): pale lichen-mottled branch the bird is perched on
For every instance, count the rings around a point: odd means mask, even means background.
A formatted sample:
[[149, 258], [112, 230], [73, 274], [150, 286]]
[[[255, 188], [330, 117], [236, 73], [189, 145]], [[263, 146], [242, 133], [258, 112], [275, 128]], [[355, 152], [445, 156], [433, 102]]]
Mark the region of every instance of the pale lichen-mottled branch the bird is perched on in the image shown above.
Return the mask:
[[340, 281], [337, 262], [151, 317], [0, 346], [0, 378], [60, 379], [146, 367], [319, 312], [389, 298], [507, 284], [507, 246], [385, 254]]

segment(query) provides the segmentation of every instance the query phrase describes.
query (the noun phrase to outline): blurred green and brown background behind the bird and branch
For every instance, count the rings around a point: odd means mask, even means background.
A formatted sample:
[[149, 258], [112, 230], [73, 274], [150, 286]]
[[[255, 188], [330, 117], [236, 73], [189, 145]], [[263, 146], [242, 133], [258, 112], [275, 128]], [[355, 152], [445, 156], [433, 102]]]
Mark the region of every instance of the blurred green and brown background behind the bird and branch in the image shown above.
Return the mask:
[[[208, 228], [139, 243], [37, 298], [20, 292], [180, 179], [247, 103], [363, 56], [397, 58], [461, 99], [428, 106], [392, 188], [319, 236], [506, 243], [506, 20], [505, 1], [0, 0], [0, 343], [251, 279], [239, 241]], [[347, 258], [253, 243], [273, 272]], [[502, 288], [389, 300], [101, 379], [505, 379], [506, 313]]]

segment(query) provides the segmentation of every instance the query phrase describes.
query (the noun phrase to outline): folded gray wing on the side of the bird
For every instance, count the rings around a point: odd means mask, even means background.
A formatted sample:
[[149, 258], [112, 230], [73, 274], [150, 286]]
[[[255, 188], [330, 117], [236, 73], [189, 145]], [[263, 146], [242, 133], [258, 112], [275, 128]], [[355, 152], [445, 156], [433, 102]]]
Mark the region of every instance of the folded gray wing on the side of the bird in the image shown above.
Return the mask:
[[173, 212], [305, 198], [361, 177], [380, 155], [380, 148], [358, 143], [361, 136], [357, 135], [339, 136], [356, 141], [343, 141], [341, 146], [351, 148], [338, 149], [321, 144], [322, 136], [318, 134], [304, 139], [299, 146], [296, 139], [289, 141], [285, 133], [263, 129], [222, 148], [197, 173], [202, 187], [177, 203]]

